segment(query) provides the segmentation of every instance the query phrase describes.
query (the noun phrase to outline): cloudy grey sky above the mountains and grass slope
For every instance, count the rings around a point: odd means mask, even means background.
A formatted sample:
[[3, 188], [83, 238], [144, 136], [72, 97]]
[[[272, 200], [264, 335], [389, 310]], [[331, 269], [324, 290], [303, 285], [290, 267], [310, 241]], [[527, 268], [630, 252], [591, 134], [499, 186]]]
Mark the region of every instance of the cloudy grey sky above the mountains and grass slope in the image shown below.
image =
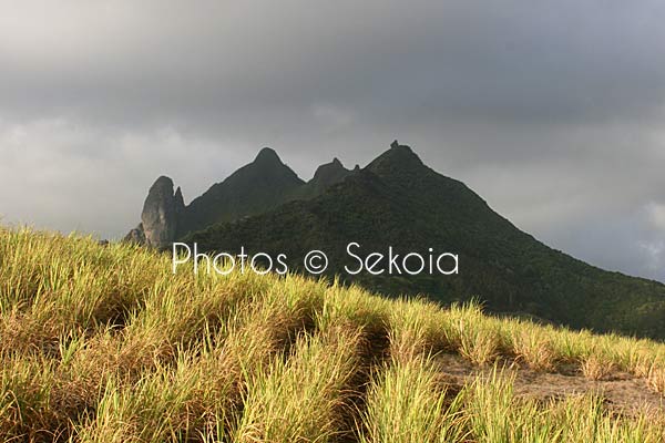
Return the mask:
[[548, 245], [665, 281], [665, 2], [0, 0], [0, 223], [120, 238], [275, 148], [393, 138]]

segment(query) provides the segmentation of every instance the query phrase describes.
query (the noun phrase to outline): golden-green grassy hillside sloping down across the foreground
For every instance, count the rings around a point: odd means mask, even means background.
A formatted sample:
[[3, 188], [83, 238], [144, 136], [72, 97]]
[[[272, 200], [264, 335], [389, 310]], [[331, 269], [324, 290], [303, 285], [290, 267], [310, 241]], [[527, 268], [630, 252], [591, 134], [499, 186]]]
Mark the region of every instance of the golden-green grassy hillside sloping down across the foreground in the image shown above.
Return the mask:
[[0, 439], [658, 442], [665, 346], [0, 228]]

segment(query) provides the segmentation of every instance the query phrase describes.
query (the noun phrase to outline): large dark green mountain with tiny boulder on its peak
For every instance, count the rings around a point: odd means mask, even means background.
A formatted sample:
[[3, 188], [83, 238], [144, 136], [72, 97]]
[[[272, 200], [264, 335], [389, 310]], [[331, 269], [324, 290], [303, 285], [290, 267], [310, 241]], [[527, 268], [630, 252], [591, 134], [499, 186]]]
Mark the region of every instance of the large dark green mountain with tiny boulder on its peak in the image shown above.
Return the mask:
[[[393, 143], [365, 168], [307, 200], [293, 200], [187, 235], [200, 250], [245, 247], [301, 270], [306, 251], [324, 250], [326, 275], [386, 295], [424, 293], [450, 303], [480, 299], [491, 311], [536, 316], [597, 331], [665, 338], [665, 285], [590, 266], [540, 243], [492, 210], [463, 183], [427, 167]], [[355, 254], [459, 256], [458, 275], [352, 275]], [[433, 251], [430, 253], [430, 249]]]

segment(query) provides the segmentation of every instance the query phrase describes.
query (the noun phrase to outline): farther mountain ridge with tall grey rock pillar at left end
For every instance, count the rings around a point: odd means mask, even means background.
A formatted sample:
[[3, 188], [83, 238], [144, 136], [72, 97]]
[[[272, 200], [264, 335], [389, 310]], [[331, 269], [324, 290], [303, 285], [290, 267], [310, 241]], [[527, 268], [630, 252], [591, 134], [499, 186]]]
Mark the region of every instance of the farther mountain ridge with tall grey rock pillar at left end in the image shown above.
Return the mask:
[[254, 162], [214, 184], [186, 206], [181, 188], [174, 193], [173, 181], [161, 176], [149, 190], [141, 224], [130, 230], [125, 240], [167, 248], [188, 233], [216, 223], [262, 214], [289, 200], [316, 197], [350, 174], [352, 171], [335, 158], [319, 166], [305, 183], [274, 150], [264, 147]]

